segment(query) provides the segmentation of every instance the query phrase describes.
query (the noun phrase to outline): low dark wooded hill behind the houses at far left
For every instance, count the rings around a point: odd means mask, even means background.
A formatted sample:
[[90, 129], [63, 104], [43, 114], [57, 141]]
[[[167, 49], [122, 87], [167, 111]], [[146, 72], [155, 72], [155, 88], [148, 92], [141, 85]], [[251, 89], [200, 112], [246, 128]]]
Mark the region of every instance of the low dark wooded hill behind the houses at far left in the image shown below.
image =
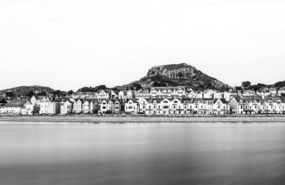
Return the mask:
[[51, 93], [54, 90], [52, 88], [43, 87], [43, 86], [39, 86], [39, 85], [20, 86], [20, 87], [16, 87], [16, 88], [9, 88], [6, 90], [0, 90], [0, 96], [5, 95], [6, 92], [12, 92], [16, 96], [26, 95], [27, 93], [29, 93], [31, 91], [33, 91], [33, 93], [35, 93], [35, 94], [38, 94], [38, 93], [41, 93], [43, 91], [45, 91], [46, 93]]

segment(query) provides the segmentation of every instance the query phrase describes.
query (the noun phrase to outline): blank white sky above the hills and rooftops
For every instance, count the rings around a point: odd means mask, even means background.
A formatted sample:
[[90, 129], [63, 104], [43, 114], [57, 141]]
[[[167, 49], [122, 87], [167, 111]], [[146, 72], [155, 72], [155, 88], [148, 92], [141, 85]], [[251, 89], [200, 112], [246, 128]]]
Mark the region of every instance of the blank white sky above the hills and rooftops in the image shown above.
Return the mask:
[[285, 1], [1, 0], [0, 89], [78, 90], [187, 63], [228, 85], [285, 80]]

